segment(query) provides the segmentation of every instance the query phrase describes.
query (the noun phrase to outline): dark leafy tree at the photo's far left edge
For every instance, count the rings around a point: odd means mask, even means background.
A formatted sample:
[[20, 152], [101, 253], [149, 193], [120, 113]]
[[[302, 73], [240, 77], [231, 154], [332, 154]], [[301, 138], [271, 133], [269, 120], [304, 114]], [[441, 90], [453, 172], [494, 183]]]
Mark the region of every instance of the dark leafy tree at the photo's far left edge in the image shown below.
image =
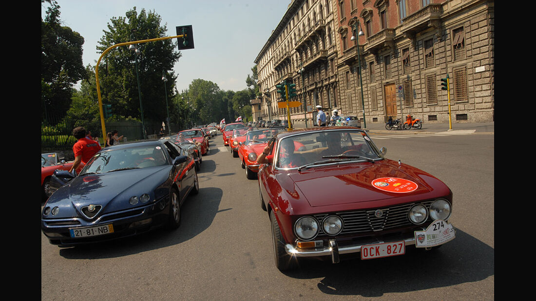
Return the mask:
[[41, 112], [63, 118], [75, 91], [72, 86], [85, 76], [82, 63], [84, 38], [71, 28], [61, 26], [59, 5], [56, 1], [41, 0], [50, 4], [46, 17], [41, 18]]

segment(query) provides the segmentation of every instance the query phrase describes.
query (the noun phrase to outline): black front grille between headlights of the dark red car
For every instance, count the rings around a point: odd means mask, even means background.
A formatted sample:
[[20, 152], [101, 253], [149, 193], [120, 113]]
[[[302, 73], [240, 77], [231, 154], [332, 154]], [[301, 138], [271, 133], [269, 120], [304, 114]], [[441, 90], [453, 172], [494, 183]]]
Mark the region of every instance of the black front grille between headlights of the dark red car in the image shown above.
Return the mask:
[[[429, 209], [433, 201], [422, 202]], [[339, 235], [345, 234], [364, 234], [374, 233], [377, 231], [403, 228], [408, 226], [415, 226], [407, 217], [411, 207], [416, 203], [404, 204], [398, 206], [391, 206], [385, 208], [359, 210], [359, 211], [345, 211], [325, 214], [315, 214], [314, 217], [322, 225], [323, 220], [329, 215], [339, 215], [343, 219], [344, 226], [343, 231]], [[382, 210], [382, 216], [376, 217], [376, 210]], [[325, 234], [320, 227], [318, 236], [329, 236]]]

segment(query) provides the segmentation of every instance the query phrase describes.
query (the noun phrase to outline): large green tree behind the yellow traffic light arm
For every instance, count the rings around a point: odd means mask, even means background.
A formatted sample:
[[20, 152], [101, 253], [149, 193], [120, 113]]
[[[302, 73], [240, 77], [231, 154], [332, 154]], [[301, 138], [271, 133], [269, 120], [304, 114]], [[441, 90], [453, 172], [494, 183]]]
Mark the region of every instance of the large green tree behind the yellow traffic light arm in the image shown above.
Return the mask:
[[[104, 35], [96, 49], [102, 53], [118, 43], [166, 37], [167, 27], [160, 25], [161, 19], [154, 11], [146, 12], [142, 9], [138, 13], [136, 7], [133, 7], [125, 13], [125, 17], [110, 19], [108, 30], [103, 30]], [[137, 57], [129, 47], [118, 47], [103, 58], [102, 66], [99, 66], [102, 101], [111, 104], [112, 112], [116, 115], [141, 118], [137, 59], [144, 119], [161, 123], [167, 118], [166, 94], [167, 109], [174, 109], [173, 103], [169, 102], [169, 99], [174, 98], [174, 87], [169, 83], [177, 79], [173, 66], [181, 53], [177, 51], [176, 39], [145, 42], [136, 47], [142, 52]], [[166, 87], [162, 74], [166, 74], [168, 79]]]

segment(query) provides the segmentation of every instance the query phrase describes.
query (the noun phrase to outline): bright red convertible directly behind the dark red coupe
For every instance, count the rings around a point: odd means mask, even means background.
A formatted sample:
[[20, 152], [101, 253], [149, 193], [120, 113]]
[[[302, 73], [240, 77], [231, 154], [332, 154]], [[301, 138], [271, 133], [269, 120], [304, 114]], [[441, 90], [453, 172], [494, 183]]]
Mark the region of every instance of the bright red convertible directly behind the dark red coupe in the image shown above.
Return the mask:
[[284, 128], [261, 129], [252, 130], [245, 135], [245, 141], [239, 145], [238, 156], [248, 179], [256, 178], [259, 169], [257, 157], [263, 152], [267, 142], [277, 133], [285, 131], [286, 129]]

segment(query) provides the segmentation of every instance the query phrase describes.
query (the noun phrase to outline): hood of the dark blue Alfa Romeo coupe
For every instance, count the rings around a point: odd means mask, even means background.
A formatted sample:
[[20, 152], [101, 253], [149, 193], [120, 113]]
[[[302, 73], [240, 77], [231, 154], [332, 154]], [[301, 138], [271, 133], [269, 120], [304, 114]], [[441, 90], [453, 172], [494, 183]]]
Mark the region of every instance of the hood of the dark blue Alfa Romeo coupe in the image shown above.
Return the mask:
[[[151, 200], [166, 195], [168, 189], [157, 189], [169, 179], [171, 165], [146, 167], [103, 174], [80, 175], [59, 188], [46, 206], [59, 206], [55, 218], [79, 216], [80, 208], [102, 205], [101, 213], [131, 209], [131, 196], [149, 194]], [[156, 194], [156, 195], [155, 195]]]

